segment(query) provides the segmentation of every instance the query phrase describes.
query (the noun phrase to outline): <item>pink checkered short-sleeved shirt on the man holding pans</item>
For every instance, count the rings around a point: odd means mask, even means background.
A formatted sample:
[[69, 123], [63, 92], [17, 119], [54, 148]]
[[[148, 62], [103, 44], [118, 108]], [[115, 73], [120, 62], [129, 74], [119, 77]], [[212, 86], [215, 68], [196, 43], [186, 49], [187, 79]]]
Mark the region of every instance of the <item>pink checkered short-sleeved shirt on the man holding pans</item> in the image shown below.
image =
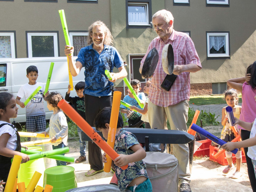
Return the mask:
[[148, 46], [146, 55], [141, 60], [141, 66], [143, 66], [148, 52], [155, 47], [158, 50], [159, 59], [148, 98], [153, 104], [160, 107], [168, 107], [190, 98], [190, 72], [183, 72], [178, 75], [169, 91], [161, 88], [166, 77], [162, 68], [162, 49], [166, 44], [171, 44], [173, 47], [174, 65], [196, 64], [202, 67], [194, 43], [186, 33], [173, 30], [166, 43], [160, 37], [153, 39]]

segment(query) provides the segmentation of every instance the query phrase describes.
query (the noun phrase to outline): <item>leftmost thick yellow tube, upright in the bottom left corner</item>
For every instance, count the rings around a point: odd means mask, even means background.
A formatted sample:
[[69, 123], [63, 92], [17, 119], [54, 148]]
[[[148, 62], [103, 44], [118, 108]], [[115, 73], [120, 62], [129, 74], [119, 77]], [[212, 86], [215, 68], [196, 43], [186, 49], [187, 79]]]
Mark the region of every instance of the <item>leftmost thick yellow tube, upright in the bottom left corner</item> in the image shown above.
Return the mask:
[[9, 171], [9, 175], [6, 181], [6, 186], [5, 186], [5, 192], [12, 192], [13, 191], [13, 186], [15, 184], [15, 180], [18, 175], [18, 171], [20, 168], [20, 163], [21, 163], [22, 157], [19, 155], [14, 155], [12, 165]]

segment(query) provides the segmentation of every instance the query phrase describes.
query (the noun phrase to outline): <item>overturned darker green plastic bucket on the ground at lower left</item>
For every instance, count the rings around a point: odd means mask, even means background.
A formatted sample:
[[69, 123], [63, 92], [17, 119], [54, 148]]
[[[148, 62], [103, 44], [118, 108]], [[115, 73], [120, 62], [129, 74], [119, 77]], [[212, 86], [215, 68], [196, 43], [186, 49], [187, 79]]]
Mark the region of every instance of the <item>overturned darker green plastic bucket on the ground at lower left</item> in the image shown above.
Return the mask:
[[44, 172], [44, 185], [53, 186], [52, 192], [64, 192], [76, 188], [75, 168], [71, 166], [56, 166], [47, 168]]

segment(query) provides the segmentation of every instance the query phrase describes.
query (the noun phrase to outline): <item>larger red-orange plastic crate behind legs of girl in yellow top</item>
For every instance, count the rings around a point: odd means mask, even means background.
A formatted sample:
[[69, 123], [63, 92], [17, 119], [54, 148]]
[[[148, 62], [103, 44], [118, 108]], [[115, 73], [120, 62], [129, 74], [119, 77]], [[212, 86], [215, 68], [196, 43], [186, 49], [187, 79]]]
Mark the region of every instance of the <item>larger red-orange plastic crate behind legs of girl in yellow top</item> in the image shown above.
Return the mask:
[[[214, 162], [217, 162], [220, 165], [228, 165], [228, 161], [227, 161], [225, 152], [222, 153], [217, 159], [214, 158], [214, 155], [218, 151], [219, 151], [218, 147], [213, 147], [213, 146], [210, 145], [210, 156], [209, 156], [210, 160], [214, 161]], [[233, 159], [233, 163], [235, 163], [236, 162], [236, 155], [235, 154], [232, 154], [232, 159]], [[246, 162], [245, 155], [242, 152], [242, 163], [245, 163], [245, 162]]]

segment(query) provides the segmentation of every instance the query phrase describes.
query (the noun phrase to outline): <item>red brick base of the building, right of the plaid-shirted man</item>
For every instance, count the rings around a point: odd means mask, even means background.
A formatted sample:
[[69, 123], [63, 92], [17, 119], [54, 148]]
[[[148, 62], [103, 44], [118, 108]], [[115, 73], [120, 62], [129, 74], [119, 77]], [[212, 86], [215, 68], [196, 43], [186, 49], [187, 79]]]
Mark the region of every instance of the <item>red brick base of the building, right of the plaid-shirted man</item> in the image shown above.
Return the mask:
[[190, 95], [210, 95], [212, 94], [212, 83], [190, 84]]

